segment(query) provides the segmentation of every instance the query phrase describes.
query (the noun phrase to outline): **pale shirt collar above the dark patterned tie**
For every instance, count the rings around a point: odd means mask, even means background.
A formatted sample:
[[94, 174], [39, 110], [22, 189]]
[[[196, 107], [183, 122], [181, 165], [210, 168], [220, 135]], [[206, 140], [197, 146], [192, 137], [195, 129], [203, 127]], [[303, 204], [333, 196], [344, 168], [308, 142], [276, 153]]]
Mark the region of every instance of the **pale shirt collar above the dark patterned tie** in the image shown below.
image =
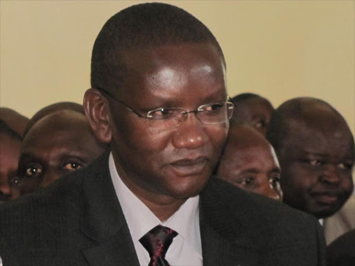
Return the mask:
[[109, 168], [114, 190], [121, 204], [133, 242], [139, 241], [150, 229], [153, 229], [158, 224], [162, 224], [178, 232], [179, 235], [202, 256], [198, 208], [199, 195], [187, 199], [187, 201], [180, 206], [180, 209], [168, 218], [168, 220], [161, 222], [154, 213], [125, 186], [114, 165], [112, 152], [109, 157]]

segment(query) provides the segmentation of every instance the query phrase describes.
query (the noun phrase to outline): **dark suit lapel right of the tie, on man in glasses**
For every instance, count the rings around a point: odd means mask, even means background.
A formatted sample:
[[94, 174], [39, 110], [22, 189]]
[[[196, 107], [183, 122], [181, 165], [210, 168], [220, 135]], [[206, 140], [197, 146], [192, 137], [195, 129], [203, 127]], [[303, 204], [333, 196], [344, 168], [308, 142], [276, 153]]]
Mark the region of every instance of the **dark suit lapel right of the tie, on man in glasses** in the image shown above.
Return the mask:
[[227, 202], [220, 201], [220, 190], [211, 183], [200, 197], [203, 265], [258, 265], [259, 251], [243, 230], [242, 223], [235, 219], [238, 210], [231, 215], [230, 210], [223, 208]]

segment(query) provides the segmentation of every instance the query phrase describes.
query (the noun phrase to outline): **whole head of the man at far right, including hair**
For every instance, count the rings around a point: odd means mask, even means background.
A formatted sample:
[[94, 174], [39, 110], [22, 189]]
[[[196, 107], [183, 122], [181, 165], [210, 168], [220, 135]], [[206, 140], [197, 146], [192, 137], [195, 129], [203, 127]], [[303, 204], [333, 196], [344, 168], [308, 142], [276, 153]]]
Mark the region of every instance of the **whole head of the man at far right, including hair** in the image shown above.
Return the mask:
[[354, 137], [323, 100], [295, 98], [272, 115], [266, 137], [282, 168], [284, 202], [317, 218], [338, 211], [353, 190]]

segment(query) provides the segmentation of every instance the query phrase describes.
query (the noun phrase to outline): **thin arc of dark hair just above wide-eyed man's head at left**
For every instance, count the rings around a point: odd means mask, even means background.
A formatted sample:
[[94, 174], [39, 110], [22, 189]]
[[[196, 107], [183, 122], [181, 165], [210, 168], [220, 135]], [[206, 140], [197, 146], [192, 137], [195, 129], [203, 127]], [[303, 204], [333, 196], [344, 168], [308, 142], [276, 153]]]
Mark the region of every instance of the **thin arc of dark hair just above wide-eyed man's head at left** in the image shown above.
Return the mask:
[[83, 114], [85, 116], [83, 105], [80, 105], [78, 103], [71, 103], [71, 102], [53, 103], [53, 105], [48, 105], [48, 106], [40, 109], [40, 111], [38, 111], [37, 113], [35, 113], [32, 116], [30, 121], [28, 121], [28, 125], [24, 131], [24, 136], [26, 136], [28, 131], [31, 130], [31, 128], [33, 127], [33, 125], [35, 125], [35, 123], [37, 123], [37, 121], [42, 119], [44, 116], [47, 116], [48, 114], [51, 114], [51, 113], [54, 113], [57, 111], [62, 111], [62, 110], [75, 111], [75, 112], [78, 112], [78, 113]]

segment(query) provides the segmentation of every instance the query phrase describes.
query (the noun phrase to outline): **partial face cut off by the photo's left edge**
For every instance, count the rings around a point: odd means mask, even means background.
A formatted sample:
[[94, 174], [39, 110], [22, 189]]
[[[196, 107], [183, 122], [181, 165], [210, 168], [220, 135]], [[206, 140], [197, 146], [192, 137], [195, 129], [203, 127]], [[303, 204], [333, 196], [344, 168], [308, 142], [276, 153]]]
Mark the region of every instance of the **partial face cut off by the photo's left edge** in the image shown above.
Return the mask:
[[17, 178], [21, 141], [0, 133], [0, 204], [19, 197], [19, 190], [12, 184]]

